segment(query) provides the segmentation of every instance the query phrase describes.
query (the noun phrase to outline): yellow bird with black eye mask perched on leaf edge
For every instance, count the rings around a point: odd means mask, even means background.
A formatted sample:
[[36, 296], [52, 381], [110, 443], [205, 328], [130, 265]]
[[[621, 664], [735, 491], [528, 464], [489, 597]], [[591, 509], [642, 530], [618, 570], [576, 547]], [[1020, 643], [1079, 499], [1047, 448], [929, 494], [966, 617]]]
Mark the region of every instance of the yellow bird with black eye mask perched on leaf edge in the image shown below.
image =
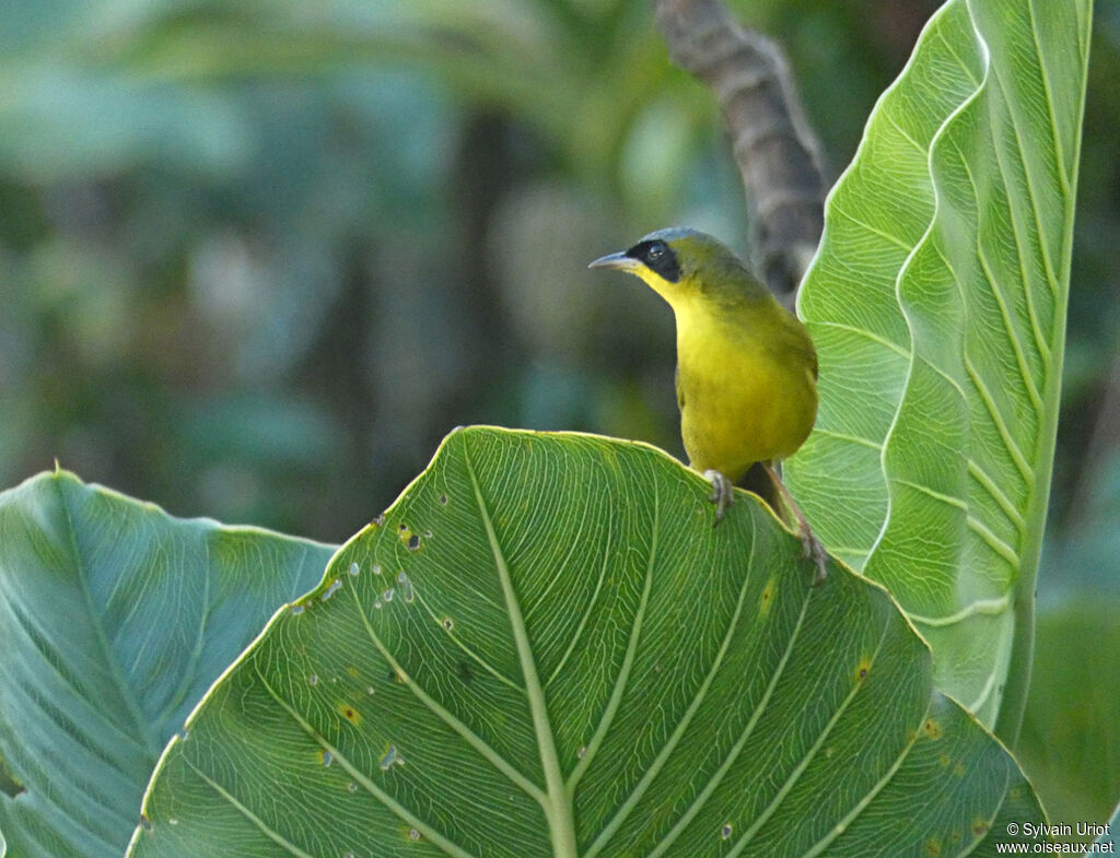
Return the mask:
[[693, 229], [651, 233], [589, 267], [629, 272], [673, 309], [681, 436], [689, 464], [712, 484], [716, 520], [745, 478], [777, 510], [773, 487], [822, 581], [824, 550], [776, 470], [816, 419], [816, 350], [805, 326], [734, 253]]

